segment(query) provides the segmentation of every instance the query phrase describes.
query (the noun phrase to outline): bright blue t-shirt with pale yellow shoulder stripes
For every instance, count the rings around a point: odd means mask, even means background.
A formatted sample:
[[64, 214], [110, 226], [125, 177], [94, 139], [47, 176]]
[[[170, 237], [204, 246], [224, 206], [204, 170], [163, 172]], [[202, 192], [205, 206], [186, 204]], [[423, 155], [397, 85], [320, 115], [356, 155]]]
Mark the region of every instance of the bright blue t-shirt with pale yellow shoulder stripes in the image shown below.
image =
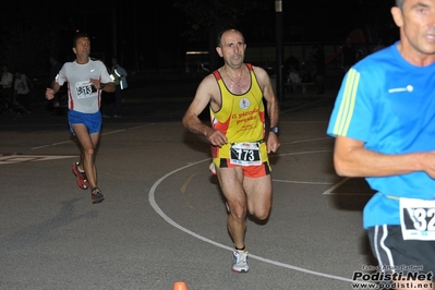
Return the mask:
[[[346, 74], [327, 134], [362, 141], [365, 148], [387, 155], [435, 150], [435, 63], [415, 67], [397, 45]], [[364, 228], [399, 225], [396, 197], [435, 198], [435, 180], [425, 172], [366, 180], [377, 193], [364, 208]]]

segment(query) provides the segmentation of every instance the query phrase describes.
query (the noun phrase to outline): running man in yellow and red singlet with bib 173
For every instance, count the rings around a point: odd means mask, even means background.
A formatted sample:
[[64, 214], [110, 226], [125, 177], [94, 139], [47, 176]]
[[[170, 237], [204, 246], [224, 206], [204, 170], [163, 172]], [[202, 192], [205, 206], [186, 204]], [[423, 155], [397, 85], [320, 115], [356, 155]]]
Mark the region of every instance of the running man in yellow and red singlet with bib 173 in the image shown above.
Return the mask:
[[[212, 144], [212, 167], [227, 198], [227, 226], [234, 243], [232, 270], [237, 273], [249, 270], [246, 214], [259, 220], [269, 215], [268, 154], [280, 146], [279, 108], [270, 78], [262, 68], [243, 62], [245, 49], [241, 32], [228, 29], [218, 35], [216, 50], [225, 64], [204, 77], [183, 117], [186, 129], [203, 134]], [[207, 106], [212, 126], [198, 118]]]

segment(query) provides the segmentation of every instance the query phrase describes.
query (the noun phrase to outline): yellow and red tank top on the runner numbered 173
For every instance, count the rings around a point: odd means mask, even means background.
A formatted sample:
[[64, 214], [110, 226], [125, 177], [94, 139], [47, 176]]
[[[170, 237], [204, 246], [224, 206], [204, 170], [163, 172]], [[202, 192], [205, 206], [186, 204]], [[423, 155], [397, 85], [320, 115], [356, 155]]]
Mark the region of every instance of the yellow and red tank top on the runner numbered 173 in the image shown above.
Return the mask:
[[263, 92], [256, 80], [254, 70], [246, 63], [250, 72], [251, 86], [246, 93], [232, 94], [223, 83], [220, 73], [216, 70], [213, 74], [219, 85], [221, 105], [218, 111], [210, 110], [210, 122], [214, 129], [222, 132], [228, 143], [221, 148], [212, 146], [212, 154], [216, 166], [220, 167], [217, 159], [228, 159], [230, 146], [233, 143], [259, 142], [261, 157], [267, 161], [267, 149], [264, 143], [265, 137], [265, 107]]

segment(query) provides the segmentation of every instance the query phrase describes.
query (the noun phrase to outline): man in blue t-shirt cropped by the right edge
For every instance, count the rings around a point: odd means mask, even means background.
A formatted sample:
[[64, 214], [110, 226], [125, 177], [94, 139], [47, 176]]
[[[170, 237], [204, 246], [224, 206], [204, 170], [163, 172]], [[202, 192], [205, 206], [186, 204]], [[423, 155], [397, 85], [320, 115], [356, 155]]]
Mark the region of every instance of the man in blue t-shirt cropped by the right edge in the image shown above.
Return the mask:
[[349, 70], [327, 133], [337, 173], [377, 192], [363, 221], [380, 269], [395, 289], [435, 289], [435, 0], [391, 14], [400, 40]]

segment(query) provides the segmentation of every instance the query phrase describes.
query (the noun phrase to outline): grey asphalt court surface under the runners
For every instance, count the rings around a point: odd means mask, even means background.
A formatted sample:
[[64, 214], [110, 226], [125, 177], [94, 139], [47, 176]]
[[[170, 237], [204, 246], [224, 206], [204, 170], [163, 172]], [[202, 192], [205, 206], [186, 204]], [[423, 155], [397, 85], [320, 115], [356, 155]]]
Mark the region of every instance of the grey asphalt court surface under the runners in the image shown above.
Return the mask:
[[65, 117], [2, 123], [0, 289], [352, 289], [353, 273], [376, 265], [362, 229], [372, 192], [334, 171], [331, 105], [281, 113], [273, 208], [249, 219], [247, 274], [230, 269], [209, 145], [179, 116], [105, 120], [97, 205], [71, 172]]

